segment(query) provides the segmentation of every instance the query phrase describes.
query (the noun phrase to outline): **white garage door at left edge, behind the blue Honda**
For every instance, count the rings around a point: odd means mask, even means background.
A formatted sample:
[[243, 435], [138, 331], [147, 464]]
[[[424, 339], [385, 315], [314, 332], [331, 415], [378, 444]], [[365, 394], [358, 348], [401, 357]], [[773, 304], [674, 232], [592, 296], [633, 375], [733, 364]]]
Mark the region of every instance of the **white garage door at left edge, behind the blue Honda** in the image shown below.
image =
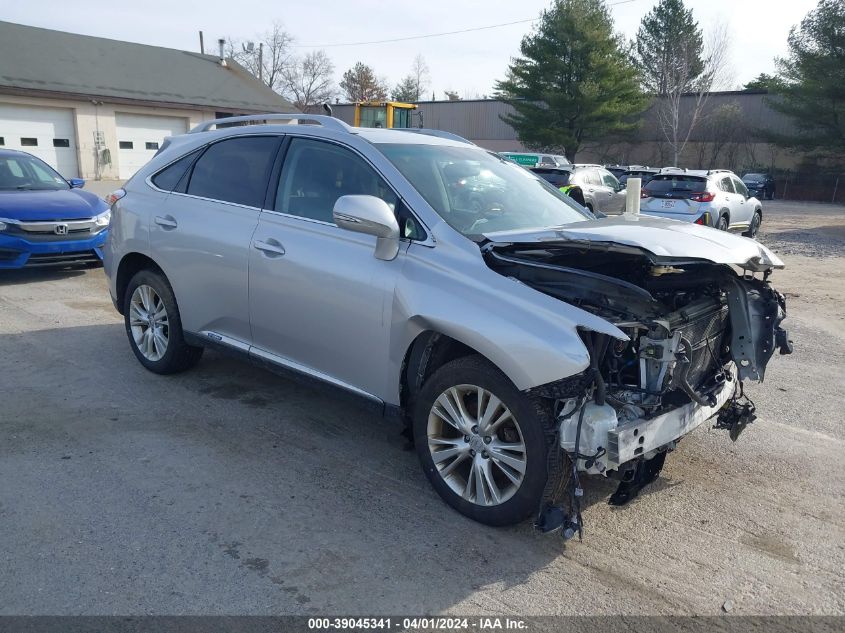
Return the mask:
[[0, 147], [38, 156], [65, 178], [77, 178], [73, 110], [0, 103]]

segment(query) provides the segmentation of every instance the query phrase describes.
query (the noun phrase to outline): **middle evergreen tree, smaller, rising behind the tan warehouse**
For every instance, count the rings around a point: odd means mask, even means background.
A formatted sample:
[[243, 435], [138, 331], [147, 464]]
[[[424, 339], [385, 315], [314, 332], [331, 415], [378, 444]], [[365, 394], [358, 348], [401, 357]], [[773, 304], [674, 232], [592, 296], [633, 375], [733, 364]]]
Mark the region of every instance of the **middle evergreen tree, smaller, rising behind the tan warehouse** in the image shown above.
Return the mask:
[[[664, 96], [674, 89], [692, 92], [704, 73], [704, 36], [683, 0], [660, 0], [640, 22], [634, 58], [643, 87]], [[683, 85], [675, 86], [681, 82]]]

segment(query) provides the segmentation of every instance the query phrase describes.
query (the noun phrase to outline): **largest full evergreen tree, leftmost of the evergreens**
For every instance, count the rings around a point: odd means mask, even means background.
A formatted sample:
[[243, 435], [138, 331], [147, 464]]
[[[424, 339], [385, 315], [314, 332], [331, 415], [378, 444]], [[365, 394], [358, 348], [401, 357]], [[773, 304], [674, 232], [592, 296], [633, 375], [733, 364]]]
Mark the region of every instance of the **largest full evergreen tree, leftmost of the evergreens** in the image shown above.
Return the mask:
[[520, 51], [496, 88], [527, 147], [574, 160], [585, 142], [636, 128], [646, 99], [604, 0], [555, 1]]

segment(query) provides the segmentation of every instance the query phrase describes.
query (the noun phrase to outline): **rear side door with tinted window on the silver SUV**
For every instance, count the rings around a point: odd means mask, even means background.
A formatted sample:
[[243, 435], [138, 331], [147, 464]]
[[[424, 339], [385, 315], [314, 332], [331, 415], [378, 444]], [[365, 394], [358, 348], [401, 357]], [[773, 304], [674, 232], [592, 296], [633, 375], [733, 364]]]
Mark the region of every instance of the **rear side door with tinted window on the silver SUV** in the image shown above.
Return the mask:
[[280, 137], [214, 143], [150, 220], [153, 259], [167, 275], [182, 327], [248, 344], [249, 245]]

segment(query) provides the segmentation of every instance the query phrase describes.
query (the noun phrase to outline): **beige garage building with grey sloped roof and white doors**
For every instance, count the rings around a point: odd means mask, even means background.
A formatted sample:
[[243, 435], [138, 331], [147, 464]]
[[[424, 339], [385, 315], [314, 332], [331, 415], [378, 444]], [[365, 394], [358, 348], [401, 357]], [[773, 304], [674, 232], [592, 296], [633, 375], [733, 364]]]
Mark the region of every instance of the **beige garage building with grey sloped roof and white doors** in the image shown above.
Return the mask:
[[126, 179], [203, 120], [296, 109], [216, 55], [0, 22], [0, 147]]

